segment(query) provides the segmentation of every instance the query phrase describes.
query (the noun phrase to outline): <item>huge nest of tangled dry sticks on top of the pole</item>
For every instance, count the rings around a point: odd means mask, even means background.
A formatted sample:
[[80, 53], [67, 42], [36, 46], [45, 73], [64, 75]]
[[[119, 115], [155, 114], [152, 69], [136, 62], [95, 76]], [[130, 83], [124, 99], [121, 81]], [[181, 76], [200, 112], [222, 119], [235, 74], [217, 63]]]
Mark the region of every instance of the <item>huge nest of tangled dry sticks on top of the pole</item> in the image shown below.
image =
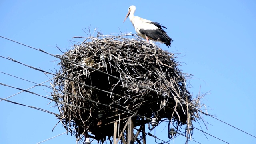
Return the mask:
[[60, 122], [78, 139], [88, 132], [111, 137], [118, 119], [132, 118], [135, 126], [168, 119], [178, 128], [198, 116], [179, 62], [154, 44], [127, 35], [89, 37], [61, 57], [53, 96]]

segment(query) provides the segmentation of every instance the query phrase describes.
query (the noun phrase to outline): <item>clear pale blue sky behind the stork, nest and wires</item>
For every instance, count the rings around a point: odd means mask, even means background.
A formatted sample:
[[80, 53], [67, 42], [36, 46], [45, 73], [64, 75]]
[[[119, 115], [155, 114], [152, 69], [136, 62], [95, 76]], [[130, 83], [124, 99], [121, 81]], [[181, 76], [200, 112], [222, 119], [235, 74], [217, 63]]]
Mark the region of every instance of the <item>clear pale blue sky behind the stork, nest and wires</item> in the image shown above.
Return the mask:
[[[123, 23], [130, 5], [136, 6], [135, 16], [159, 22], [168, 28], [167, 34], [174, 40], [172, 46], [160, 47], [176, 53], [182, 62], [180, 70], [194, 75], [188, 79], [190, 92], [196, 96], [210, 91], [202, 99], [208, 113], [256, 136], [256, 1], [255, 0], [165, 0], [135, 1], [50, 1], [1, 0], [0, 1], [0, 36], [41, 48], [51, 54], [61, 54], [70, 49], [74, 36], [87, 35], [83, 29], [98, 28], [102, 34], [120, 34], [135, 30], [129, 20]], [[82, 39], [75, 39], [82, 41]], [[14, 58], [22, 63], [50, 71], [58, 69], [56, 58], [32, 50], [20, 44], [0, 38], [0, 56]], [[42, 72], [32, 70], [10, 60], [0, 58], [0, 72], [12, 74], [36, 83], [49, 78]], [[50, 78], [52, 76], [48, 75]], [[0, 73], [0, 83], [23, 89], [35, 84]], [[45, 83], [49, 85], [49, 82]], [[200, 90], [201, 86], [201, 90]], [[6, 98], [20, 90], [0, 86], [0, 98]], [[31, 89], [43, 96], [51, 90], [36, 86]], [[14, 102], [36, 106], [58, 113], [53, 103], [36, 95], [22, 92], [8, 98]], [[65, 132], [54, 115], [19, 106], [9, 102], [0, 102], [0, 143], [36, 144], [52, 136]], [[230, 144], [254, 144], [256, 138], [248, 136], [214, 118], [204, 116], [212, 134]], [[198, 123], [194, 123], [200, 127]], [[168, 140], [165, 125], [156, 129], [156, 136]], [[154, 132], [153, 132], [154, 134]], [[202, 144], [224, 143], [216, 138], [194, 130], [194, 140]], [[42, 144], [74, 144], [70, 134], [61, 135]], [[157, 140], [157, 142], [161, 142]], [[154, 144], [154, 139], [148, 139]], [[185, 138], [179, 136], [170, 143], [184, 144]], [[189, 142], [196, 144], [196, 142]]]

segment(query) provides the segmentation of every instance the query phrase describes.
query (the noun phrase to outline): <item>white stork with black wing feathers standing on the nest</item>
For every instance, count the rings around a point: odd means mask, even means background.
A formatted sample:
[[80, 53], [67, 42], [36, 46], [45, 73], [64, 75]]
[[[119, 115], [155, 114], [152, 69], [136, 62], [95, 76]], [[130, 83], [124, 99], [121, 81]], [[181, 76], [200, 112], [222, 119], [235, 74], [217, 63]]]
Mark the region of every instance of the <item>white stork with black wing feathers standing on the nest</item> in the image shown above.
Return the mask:
[[146, 20], [140, 18], [138, 16], [134, 16], [134, 12], [136, 10], [135, 6], [130, 6], [128, 9], [128, 14], [126, 15], [124, 21], [129, 16], [130, 21], [132, 22], [133, 27], [135, 28], [138, 36], [148, 39], [163, 42], [166, 46], [171, 46], [171, 42], [173, 41], [166, 32], [162, 28], [166, 28], [159, 24], [158, 22], [152, 22], [150, 20]]

